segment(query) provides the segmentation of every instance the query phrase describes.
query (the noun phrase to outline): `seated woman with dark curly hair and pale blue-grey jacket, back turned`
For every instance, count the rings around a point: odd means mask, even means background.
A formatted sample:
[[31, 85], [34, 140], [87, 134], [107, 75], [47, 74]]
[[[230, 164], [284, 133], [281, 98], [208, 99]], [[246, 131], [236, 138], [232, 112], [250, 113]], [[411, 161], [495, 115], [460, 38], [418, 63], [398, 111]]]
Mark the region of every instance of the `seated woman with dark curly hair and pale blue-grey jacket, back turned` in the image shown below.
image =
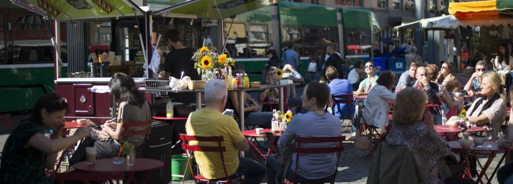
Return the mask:
[[367, 105], [363, 109], [363, 118], [366, 124], [378, 128], [388, 125], [389, 102], [396, 100], [396, 94], [391, 91], [396, 80], [396, 73], [392, 71], [380, 73], [376, 86], [370, 89]]

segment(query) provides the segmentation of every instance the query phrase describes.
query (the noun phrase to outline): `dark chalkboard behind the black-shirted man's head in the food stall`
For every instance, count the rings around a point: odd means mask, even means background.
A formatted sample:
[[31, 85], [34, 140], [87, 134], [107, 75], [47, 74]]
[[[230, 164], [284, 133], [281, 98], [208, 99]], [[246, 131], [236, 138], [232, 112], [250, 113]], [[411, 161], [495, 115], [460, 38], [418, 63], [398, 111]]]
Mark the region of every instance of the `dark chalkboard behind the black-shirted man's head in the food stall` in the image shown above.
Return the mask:
[[192, 50], [196, 50], [200, 47], [200, 21], [193, 21], [192, 25], [190, 25], [190, 19], [174, 18], [173, 24], [169, 25], [168, 22], [170, 20], [171, 18], [166, 18], [166, 22], [164, 22], [164, 18], [153, 20], [153, 31], [157, 34], [162, 34], [159, 48], [167, 46], [164, 41], [164, 35], [169, 29], [176, 29], [180, 32], [181, 41], [185, 47], [191, 48]]

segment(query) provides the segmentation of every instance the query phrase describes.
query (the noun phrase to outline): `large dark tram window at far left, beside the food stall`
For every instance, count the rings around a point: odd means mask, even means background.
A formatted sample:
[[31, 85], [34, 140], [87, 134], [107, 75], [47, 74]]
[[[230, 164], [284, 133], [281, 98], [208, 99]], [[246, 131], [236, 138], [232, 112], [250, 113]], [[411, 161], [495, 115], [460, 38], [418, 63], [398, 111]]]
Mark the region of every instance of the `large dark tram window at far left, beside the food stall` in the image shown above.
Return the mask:
[[51, 62], [53, 46], [51, 21], [33, 13], [14, 12], [12, 25], [12, 60], [14, 62]]

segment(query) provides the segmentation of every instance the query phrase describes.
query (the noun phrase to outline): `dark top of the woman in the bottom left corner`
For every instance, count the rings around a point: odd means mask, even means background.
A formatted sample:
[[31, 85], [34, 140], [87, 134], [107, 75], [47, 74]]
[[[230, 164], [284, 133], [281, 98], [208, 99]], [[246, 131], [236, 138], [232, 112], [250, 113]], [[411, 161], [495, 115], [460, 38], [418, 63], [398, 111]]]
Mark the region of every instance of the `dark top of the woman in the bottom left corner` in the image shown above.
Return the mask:
[[44, 173], [47, 154], [28, 145], [38, 133], [43, 129], [32, 122], [14, 128], [2, 151], [0, 183], [53, 183], [53, 177]]

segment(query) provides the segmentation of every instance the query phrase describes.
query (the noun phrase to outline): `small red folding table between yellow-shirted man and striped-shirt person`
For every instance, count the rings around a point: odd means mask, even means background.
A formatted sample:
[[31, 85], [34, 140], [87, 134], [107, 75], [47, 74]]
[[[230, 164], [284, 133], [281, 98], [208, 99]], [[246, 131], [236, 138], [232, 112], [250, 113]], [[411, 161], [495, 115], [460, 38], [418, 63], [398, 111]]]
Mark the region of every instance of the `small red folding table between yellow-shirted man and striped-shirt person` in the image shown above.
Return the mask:
[[[271, 132], [271, 129], [266, 128], [266, 129], [264, 129], [263, 132]], [[274, 141], [276, 140], [277, 137], [280, 137], [282, 135], [281, 133], [273, 133], [272, 135], [264, 135], [264, 134], [257, 135], [257, 130], [254, 130], [254, 129], [243, 131], [242, 134], [244, 136], [246, 136], [246, 139], [248, 139], [249, 145], [251, 147], [253, 147], [254, 150], [256, 150], [256, 153], [260, 154], [260, 156], [262, 156], [262, 158], [264, 158], [264, 161], [267, 160], [267, 157], [269, 155], [271, 155], [272, 153], [277, 153], [276, 147], [274, 146]], [[262, 153], [257, 148], [257, 146], [255, 146], [253, 144], [253, 142], [259, 144], [257, 141], [257, 137], [267, 137], [269, 139], [269, 142], [271, 143], [271, 145], [269, 146], [269, 150], [267, 151], [267, 154]], [[253, 153], [255, 153], [255, 152], [253, 152]], [[257, 154], [253, 154], [253, 155], [255, 156], [255, 160], [259, 160], [257, 158]]]

